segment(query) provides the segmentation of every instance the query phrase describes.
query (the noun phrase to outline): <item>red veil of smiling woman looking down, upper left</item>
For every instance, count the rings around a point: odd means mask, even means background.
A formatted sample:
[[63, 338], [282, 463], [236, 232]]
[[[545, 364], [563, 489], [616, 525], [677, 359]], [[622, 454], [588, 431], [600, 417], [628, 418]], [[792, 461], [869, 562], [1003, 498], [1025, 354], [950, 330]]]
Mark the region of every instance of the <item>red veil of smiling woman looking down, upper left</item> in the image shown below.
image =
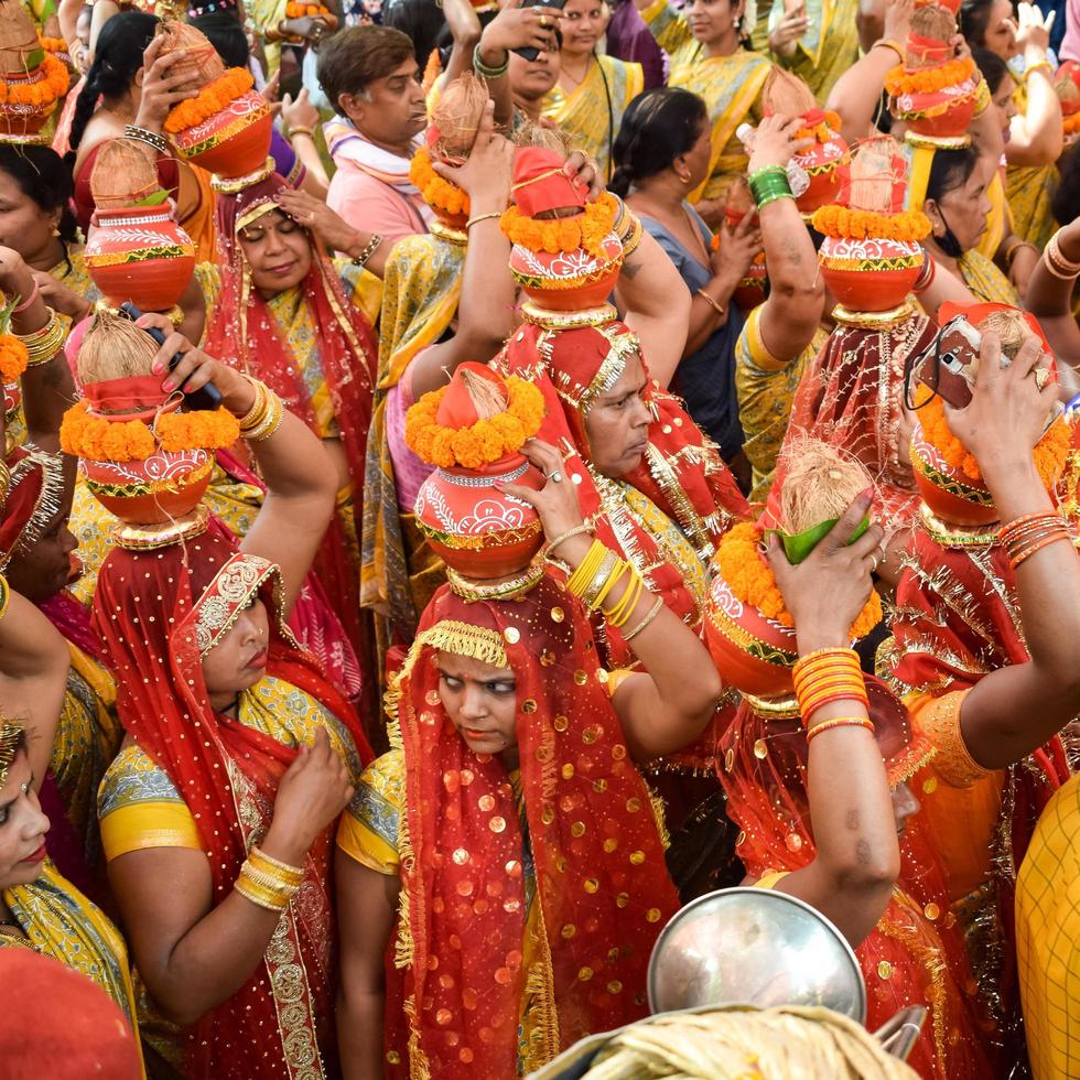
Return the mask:
[[[225, 255], [222, 292], [206, 334], [212, 355], [262, 379], [290, 412], [314, 428], [311, 391], [276, 325], [273, 314], [251, 283], [251, 268], [237, 240], [241, 228], [279, 209], [279, 192], [289, 184], [277, 173], [236, 194], [219, 195], [217, 229]], [[364, 457], [371, 423], [371, 400], [379, 348], [367, 317], [345, 295], [322, 241], [311, 236], [312, 263], [301, 282], [304, 303], [317, 330], [318, 364], [326, 380], [334, 418], [353, 482], [356, 536], [363, 518]], [[327, 531], [315, 570], [330, 594], [339, 597], [338, 615], [359, 646], [359, 570], [349, 565], [345, 538], [334, 522]]]

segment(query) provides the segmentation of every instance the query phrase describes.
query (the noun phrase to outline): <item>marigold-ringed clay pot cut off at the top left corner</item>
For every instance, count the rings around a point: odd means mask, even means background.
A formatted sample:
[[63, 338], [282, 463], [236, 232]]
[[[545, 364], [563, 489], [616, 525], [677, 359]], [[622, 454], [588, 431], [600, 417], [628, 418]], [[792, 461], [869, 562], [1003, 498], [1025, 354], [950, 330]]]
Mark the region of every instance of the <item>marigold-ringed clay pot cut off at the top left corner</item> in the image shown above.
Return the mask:
[[69, 84], [67, 65], [42, 46], [23, 6], [0, 0], [0, 142], [44, 142]]

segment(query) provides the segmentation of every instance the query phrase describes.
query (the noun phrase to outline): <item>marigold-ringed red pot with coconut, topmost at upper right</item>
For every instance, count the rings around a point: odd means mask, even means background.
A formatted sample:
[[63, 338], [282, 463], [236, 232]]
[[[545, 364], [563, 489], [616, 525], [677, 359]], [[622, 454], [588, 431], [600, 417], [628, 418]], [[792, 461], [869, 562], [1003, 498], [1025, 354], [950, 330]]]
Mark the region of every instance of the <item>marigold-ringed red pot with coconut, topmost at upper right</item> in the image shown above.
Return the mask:
[[908, 141], [939, 148], [965, 147], [981, 95], [987, 94], [975, 62], [954, 55], [957, 20], [928, 6], [911, 15], [906, 58], [885, 77], [889, 110], [907, 125]]

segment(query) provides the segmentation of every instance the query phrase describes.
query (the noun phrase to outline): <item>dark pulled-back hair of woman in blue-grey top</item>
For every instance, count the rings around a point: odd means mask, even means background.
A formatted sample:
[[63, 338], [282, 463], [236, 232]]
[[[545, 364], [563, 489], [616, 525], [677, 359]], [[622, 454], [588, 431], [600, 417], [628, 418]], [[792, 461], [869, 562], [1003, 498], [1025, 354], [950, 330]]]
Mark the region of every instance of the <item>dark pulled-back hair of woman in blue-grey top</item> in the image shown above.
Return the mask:
[[670, 169], [708, 123], [705, 102], [690, 90], [663, 86], [639, 94], [630, 101], [615, 138], [615, 172], [607, 186], [626, 196], [633, 184]]

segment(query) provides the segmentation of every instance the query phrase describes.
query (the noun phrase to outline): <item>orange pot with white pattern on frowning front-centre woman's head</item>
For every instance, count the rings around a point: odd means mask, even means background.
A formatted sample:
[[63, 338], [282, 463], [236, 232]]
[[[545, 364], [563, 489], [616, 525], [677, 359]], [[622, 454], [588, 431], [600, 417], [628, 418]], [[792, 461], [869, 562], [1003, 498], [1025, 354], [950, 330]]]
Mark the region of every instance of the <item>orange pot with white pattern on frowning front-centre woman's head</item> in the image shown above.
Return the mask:
[[417, 496], [417, 523], [434, 552], [477, 581], [518, 573], [543, 543], [537, 511], [496, 483], [539, 490], [544, 477], [522, 454], [510, 454], [479, 469], [436, 468]]

